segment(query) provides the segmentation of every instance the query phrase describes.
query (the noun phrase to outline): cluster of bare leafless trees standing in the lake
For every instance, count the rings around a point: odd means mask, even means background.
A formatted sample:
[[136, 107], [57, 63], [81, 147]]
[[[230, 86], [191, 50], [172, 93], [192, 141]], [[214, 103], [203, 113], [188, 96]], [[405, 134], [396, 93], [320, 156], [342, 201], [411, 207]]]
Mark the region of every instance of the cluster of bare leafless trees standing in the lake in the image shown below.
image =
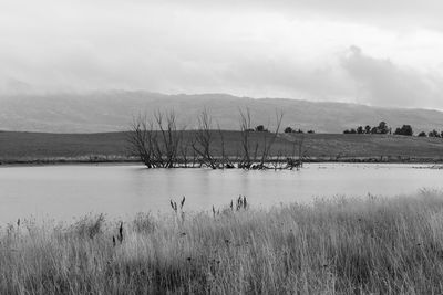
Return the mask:
[[198, 116], [196, 128], [187, 130], [186, 136], [186, 127], [178, 126], [174, 112], [156, 112], [152, 118], [146, 115], [135, 117], [127, 133], [131, 154], [137, 156], [147, 168], [298, 169], [301, 167], [302, 140], [297, 144], [299, 145], [297, 160], [295, 152], [292, 157], [286, 159], [281, 151], [271, 155], [272, 146], [279, 136], [282, 113], [276, 113], [276, 129], [272, 133], [260, 133], [255, 140], [251, 139], [254, 129], [249, 109], [240, 110], [239, 117], [240, 139], [236, 156], [227, 155], [225, 133], [219, 126], [215, 128], [206, 109]]

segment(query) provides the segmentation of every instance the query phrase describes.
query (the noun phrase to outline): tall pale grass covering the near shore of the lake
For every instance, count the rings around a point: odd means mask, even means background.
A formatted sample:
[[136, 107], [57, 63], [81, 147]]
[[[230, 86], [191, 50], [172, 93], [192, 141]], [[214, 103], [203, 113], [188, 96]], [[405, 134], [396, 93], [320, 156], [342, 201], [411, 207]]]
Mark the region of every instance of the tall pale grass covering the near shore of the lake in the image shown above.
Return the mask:
[[441, 294], [443, 194], [2, 229], [1, 294]]

